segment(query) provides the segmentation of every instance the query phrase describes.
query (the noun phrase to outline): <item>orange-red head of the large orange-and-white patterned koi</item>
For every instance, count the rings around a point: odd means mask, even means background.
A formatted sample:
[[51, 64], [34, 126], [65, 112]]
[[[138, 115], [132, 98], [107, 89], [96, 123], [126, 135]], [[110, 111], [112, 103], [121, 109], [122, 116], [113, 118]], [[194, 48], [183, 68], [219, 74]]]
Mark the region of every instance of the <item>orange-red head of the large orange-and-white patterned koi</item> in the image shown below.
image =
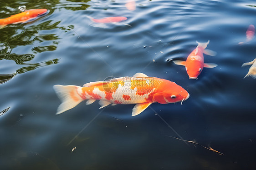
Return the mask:
[[164, 80], [159, 84], [153, 96], [153, 102], [161, 104], [176, 103], [189, 98], [189, 93], [176, 83]]

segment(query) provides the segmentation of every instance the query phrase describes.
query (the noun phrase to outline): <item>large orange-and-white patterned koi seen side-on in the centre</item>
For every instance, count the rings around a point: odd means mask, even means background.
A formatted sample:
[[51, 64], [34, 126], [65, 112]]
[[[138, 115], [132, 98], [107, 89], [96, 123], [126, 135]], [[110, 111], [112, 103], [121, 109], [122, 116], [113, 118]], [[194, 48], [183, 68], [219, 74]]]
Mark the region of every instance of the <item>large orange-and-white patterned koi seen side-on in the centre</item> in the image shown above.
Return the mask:
[[110, 104], [136, 104], [132, 116], [138, 115], [152, 103], [176, 103], [189, 98], [189, 93], [176, 83], [136, 73], [133, 77], [120, 77], [107, 81], [96, 81], [81, 86], [54, 85], [62, 101], [56, 114], [70, 110], [83, 100], [86, 105], [99, 100], [102, 109]]

